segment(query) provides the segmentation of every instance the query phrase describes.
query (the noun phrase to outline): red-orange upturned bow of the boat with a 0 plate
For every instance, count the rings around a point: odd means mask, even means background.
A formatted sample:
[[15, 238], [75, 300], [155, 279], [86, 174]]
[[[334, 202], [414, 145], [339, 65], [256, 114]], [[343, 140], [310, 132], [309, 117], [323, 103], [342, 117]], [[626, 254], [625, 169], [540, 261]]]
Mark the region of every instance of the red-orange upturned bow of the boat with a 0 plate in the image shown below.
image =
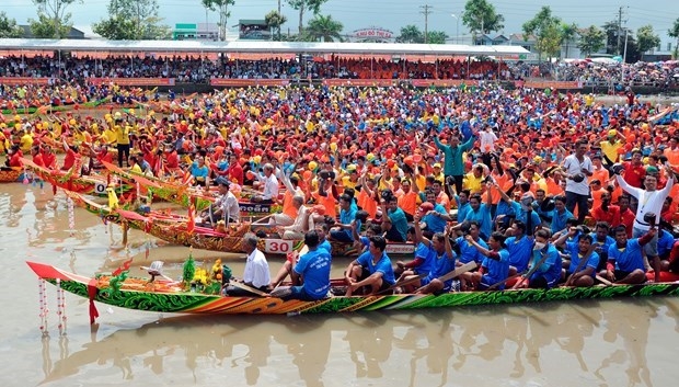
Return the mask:
[[[106, 196], [106, 189], [110, 185], [107, 178], [91, 174], [81, 175], [72, 170], [60, 171], [49, 170], [37, 166], [28, 159], [22, 159], [26, 169], [31, 170], [41, 180], [51, 183], [54, 186], [62, 190], [77, 192], [80, 194], [93, 195], [93, 196]], [[130, 184], [115, 184], [115, 192], [117, 194], [126, 194], [134, 192], [134, 185]]]

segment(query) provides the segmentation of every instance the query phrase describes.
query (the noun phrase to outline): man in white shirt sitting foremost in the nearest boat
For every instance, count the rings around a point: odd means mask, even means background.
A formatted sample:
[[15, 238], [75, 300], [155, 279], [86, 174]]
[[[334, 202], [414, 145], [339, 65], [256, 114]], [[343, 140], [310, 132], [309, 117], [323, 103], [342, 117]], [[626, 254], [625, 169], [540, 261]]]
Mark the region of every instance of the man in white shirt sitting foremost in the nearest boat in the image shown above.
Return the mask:
[[268, 271], [268, 262], [264, 253], [257, 249], [260, 238], [254, 234], [248, 232], [243, 236], [243, 251], [248, 253], [248, 260], [245, 261], [245, 270], [243, 271], [242, 280], [234, 280], [235, 284], [230, 284], [223, 289], [226, 296], [232, 297], [252, 297], [258, 295], [257, 293], [250, 292], [248, 288], [253, 288], [260, 292], [268, 292], [268, 285], [272, 282], [271, 273]]

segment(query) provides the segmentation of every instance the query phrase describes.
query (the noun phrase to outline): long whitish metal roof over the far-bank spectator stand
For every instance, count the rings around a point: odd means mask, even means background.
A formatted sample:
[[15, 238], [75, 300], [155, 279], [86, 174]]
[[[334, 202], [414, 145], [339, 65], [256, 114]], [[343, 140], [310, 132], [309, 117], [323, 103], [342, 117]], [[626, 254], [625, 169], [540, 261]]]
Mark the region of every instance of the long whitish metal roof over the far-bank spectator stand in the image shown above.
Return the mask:
[[0, 50], [61, 50], [115, 53], [296, 53], [375, 55], [517, 56], [529, 54], [521, 46], [470, 46], [460, 44], [313, 43], [313, 42], [203, 42], [203, 41], [101, 41], [0, 38]]

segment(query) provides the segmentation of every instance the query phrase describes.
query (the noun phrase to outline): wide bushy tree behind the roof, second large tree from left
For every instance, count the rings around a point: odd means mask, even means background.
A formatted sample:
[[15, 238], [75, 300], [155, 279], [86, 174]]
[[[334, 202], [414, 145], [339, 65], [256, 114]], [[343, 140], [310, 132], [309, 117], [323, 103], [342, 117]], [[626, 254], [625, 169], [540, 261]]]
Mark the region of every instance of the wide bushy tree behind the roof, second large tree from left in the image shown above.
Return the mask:
[[170, 27], [161, 24], [157, 0], [111, 0], [108, 19], [92, 24], [92, 30], [113, 41], [163, 39]]

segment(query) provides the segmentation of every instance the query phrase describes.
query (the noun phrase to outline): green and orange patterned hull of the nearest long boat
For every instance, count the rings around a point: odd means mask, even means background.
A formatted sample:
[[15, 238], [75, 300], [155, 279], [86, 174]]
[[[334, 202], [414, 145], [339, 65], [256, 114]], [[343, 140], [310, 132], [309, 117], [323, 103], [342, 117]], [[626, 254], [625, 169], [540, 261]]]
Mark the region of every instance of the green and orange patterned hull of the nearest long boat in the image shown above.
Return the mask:
[[[679, 283], [649, 283], [592, 287], [544, 289], [458, 292], [441, 295], [333, 296], [317, 301], [287, 300], [275, 297], [225, 297], [184, 289], [173, 282], [150, 283], [148, 278], [126, 275], [91, 278], [54, 268], [27, 262], [38, 277], [57, 284], [66, 292], [91, 300], [91, 321], [97, 316], [93, 301], [122, 308], [181, 314], [319, 314], [357, 310], [410, 310], [471, 305], [523, 304], [571, 299], [608, 299], [619, 297], [677, 296]], [[126, 273], [126, 272], [124, 272]], [[94, 312], [92, 309], [94, 308]]]

